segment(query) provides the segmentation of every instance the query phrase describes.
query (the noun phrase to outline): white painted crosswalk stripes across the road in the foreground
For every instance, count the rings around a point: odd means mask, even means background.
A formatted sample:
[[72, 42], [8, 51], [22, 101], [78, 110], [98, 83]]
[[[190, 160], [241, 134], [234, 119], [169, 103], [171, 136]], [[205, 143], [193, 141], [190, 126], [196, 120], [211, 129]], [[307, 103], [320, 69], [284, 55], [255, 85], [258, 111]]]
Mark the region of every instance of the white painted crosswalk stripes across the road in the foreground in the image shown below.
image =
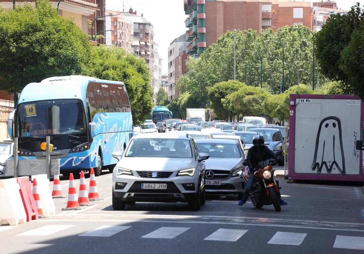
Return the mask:
[[[19, 225], [20, 226], [20, 225]], [[4, 232], [7, 230], [18, 228], [19, 226], [0, 226], [0, 232]], [[25, 231], [23, 233], [16, 234], [16, 237], [24, 237], [24, 236], [31, 236], [31, 237], [44, 237], [48, 235], [57, 235], [57, 233], [66, 232], [67, 230], [75, 227], [78, 228], [76, 225], [45, 225], [40, 226], [35, 229], [31, 229]], [[123, 234], [125, 231], [125, 235], [129, 235], [130, 231], [133, 226], [118, 226], [118, 225], [102, 225], [96, 227], [90, 231], [86, 231], [84, 233], [78, 234], [80, 237], [111, 237], [112, 235], [116, 234]], [[159, 239], [174, 239], [180, 235], [186, 234], [191, 230], [189, 227], [160, 227], [157, 228], [150, 233], [141, 234], [140, 238], [159, 238]], [[68, 230], [73, 231], [73, 230]], [[245, 234], [249, 230], [246, 229], [226, 229], [226, 228], [219, 228], [215, 230], [215, 232], [209, 234], [199, 233], [199, 238], [201, 240], [206, 241], [225, 241], [225, 242], [237, 242], [239, 240], [245, 241]], [[250, 231], [252, 231], [250, 229]], [[205, 235], [203, 235], [205, 234]], [[268, 235], [268, 234], [267, 234]], [[307, 233], [295, 233], [295, 232], [276, 232], [273, 236], [270, 236], [269, 241], [266, 243], [268, 244], [276, 244], [276, 245], [292, 245], [292, 246], [300, 246], [302, 243], [305, 243], [305, 238], [308, 234]], [[268, 239], [268, 238], [267, 238]], [[195, 239], [196, 240], [196, 239]], [[364, 237], [357, 237], [357, 236], [348, 236], [348, 235], [336, 235], [335, 242], [332, 246], [333, 248], [338, 249], [351, 249], [351, 250], [364, 250]]]

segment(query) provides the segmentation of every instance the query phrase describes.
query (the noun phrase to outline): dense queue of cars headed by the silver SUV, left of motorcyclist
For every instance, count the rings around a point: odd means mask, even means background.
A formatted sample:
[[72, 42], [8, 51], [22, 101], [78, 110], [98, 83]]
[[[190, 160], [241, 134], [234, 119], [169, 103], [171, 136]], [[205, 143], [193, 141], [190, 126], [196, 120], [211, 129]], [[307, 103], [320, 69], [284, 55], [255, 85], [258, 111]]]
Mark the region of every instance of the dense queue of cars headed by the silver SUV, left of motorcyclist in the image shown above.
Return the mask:
[[243, 163], [258, 134], [282, 157], [285, 132], [279, 126], [182, 121], [166, 119], [154, 124], [146, 120], [125, 151], [112, 154], [119, 160], [113, 171], [114, 209], [135, 202], [187, 202], [191, 210], [198, 210], [206, 194], [242, 198]]

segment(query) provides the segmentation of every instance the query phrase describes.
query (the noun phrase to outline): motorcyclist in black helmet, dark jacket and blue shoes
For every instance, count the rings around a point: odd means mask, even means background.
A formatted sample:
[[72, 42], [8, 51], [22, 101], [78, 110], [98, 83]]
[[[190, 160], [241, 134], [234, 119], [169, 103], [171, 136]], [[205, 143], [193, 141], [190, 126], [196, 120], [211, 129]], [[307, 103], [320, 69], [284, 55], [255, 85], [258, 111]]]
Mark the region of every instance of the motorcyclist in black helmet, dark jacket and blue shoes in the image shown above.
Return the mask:
[[[249, 179], [245, 186], [243, 198], [238, 203], [239, 205], [245, 204], [246, 200], [248, 200], [250, 189], [252, 189], [255, 181], [254, 171], [258, 168], [258, 163], [268, 159], [276, 159], [276, 154], [264, 146], [263, 136], [255, 135], [253, 137], [253, 146], [249, 148], [246, 156], [246, 161], [249, 163]], [[287, 203], [280, 198], [280, 204], [286, 205]]]

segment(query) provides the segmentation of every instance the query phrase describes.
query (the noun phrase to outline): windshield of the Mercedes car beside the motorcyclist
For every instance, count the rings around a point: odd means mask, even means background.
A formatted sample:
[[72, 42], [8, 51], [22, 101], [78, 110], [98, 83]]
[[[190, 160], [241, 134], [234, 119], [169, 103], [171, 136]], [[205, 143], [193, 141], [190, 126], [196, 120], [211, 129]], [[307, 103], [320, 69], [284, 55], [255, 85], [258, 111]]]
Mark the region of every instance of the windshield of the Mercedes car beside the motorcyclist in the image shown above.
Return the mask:
[[217, 158], [240, 158], [241, 154], [237, 144], [196, 144], [198, 152], [204, 152], [210, 157]]

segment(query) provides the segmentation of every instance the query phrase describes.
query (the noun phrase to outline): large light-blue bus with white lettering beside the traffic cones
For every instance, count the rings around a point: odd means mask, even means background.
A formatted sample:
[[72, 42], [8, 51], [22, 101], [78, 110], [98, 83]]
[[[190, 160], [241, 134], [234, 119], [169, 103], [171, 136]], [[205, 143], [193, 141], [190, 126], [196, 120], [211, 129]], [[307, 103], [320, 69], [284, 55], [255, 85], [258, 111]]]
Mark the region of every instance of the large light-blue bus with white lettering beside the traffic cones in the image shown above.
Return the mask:
[[133, 130], [124, 83], [79, 75], [28, 84], [9, 119], [19, 160], [44, 159], [40, 144], [50, 136], [51, 159], [60, 158], [63, 175], [94, 168], [99, 176], [117, 163], [112, 153], [124, 151]]

